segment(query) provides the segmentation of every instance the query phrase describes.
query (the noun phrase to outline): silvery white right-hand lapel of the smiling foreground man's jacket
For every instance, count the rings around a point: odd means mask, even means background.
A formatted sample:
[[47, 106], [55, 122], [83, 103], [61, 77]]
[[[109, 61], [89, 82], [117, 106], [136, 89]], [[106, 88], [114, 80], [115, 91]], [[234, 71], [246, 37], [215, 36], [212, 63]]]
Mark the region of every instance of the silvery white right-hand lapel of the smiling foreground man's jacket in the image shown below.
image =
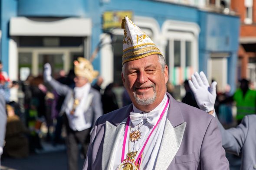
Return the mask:
[[186, 124], [186, 122], [183, 122], [174, 128], [171, 122], [168, 119], [166, 120], [155, 170], [166, 170], [169, 167], [181, 146]]

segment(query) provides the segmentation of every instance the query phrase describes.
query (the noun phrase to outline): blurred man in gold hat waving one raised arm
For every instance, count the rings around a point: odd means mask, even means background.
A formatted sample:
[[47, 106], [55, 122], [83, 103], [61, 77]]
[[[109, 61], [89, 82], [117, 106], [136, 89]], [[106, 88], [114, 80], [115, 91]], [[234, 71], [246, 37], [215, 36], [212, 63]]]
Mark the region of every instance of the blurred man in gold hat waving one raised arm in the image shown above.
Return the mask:
[[60, 113], [66, 113], [67, 123], [67, 155], [68, 169], [78, 170], [78, 144], [82, 144], [83, 152], [87, 152], [87, 140], [91, 127], [102, 115], [102, 103], [99, 92], [91, 87], [92, 80], [98, 75], [90, 61], [79, 57], [74, 61], [75, 88], [59, 83], [51, 77], [51, 66], [46, 63], [44, 79], [61, 96], [66, 96]]

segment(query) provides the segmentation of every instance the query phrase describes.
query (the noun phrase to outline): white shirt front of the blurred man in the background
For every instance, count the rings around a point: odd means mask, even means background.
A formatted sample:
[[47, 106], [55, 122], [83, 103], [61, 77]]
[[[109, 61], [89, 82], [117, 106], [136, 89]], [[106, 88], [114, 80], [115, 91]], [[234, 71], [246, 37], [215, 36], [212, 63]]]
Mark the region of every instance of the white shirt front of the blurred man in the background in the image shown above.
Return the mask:
[[91, 89], [90, 83], [86, 83], [82, 87], [74, 88], [75, 99], [79, 99], [80, 103], [76, 107], [73, 115], [70, 114], [70, 112], [72, 110], [74, 99], [70, 99], [68, 102], [68, 106], [66, 108], [66, 115], [69, 119], [69, 127], [73, 131], [82, 131], [91, 127], [91, 123], [86, 122], [85, 115], [84, 115], [84, 112], [88, 109], [88, 108], [85, 108], [85, 106], [88, 106], [85, 103], [91, 102], [88, 100], [90, 89]]

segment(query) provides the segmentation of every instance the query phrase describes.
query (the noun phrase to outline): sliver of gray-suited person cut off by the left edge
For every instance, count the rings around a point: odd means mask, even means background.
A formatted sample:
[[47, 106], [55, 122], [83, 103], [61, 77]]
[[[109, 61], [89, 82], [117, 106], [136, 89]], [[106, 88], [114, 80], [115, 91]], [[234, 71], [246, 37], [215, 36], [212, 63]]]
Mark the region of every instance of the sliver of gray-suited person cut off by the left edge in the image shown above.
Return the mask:
[[5, 109], [5, 99], [0, 94], [0, 167], [1, 167], [1, 155], [3, 154], [3, 144], [5, 139], [7, 114]]

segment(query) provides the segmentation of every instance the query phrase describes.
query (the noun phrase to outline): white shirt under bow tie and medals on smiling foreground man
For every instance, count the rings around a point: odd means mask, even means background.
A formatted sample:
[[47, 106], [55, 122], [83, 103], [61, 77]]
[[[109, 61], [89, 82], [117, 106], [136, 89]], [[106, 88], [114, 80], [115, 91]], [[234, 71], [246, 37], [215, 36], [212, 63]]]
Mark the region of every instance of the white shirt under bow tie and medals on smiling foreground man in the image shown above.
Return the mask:
[[[156, 117], [154, 119], [160, 118], [160, 115], [161, 115], [162, 111], [164, 110], [164, 106], [166, 105], [166, 103], [167, 103], [167, 95], [165, 95], [162, 102], [154, 110], [152, 110], [152, 111], [157, 111], [157, 110], [159, 111], [158, 115], [156, 115]], [[144, 148], [143, 156], [142, 156], [142, 160], [141, 160], [141, 166], [140, 166], [141, 170], [154, 170], [155, 163], [157, 161], [160, 144], [161, 144], [161, 140], [162, 140], [162, 136], [164, 133], [164, 125], [165, 125], [165, 121], [166, 121], [166, 117], [167, 117], [168, 107], [169, 106], [167, 106], [167, 109], [166, 109], [161, 121], [159, 122], [158, 126], [155, 128], [154, 132], [152, 133], [151, 137], [148, 140], [148, 143], [146, 144], [146, 146]], [[137, 109], [133, 105], [133, 112], [141, 113], [142, 111]], [[143, 113], [141, 113], [141, 114], [143, 114]], [[140, 127], [140, 125], [141, 125], [141, 127]], [[139, 131], [142, 132], [141, 138], [135, 142], [130, 141], [130, 151], [128, 151], [129, 134], [130, 134], [130, 132], [137, 130], [138, 126], [140, 127]], [[130, 131], [130, 128], [131, 128], [131, 131]], [[153, 129], [153, 126], [148, 124], [146, 122], [146, 120], [144, 120], [141, 124], [139, 124], [135, 127], [132, 125], [132, 123], [130, 123], [129, 129], [128, 129], [126, 145], [125, 145], [125, 158], [126, 158], [126, 154], [131, 151], [138, 151], [138, 153], [136, 155], [136, 156], [138, 156], [138, 154], [141, 151], [141, 148], [143, 147], [143, 145], [144, 145], [145, 141], [147, 140], [148, 135], [150, 134], [152, 129]], [[125, 129], [123, 132], [123, 138], [120, 138], [118, 141], [118, 146], [117, 146], [116, 153], [115, 153], [115, 162], [114, 162], [115, 170], [121, 164], [121, 154], [122, 154], [124, 135], [125, 135]], [[135, 157], [135, 160], [136, 159], [137, 159], [137, 157]]]

